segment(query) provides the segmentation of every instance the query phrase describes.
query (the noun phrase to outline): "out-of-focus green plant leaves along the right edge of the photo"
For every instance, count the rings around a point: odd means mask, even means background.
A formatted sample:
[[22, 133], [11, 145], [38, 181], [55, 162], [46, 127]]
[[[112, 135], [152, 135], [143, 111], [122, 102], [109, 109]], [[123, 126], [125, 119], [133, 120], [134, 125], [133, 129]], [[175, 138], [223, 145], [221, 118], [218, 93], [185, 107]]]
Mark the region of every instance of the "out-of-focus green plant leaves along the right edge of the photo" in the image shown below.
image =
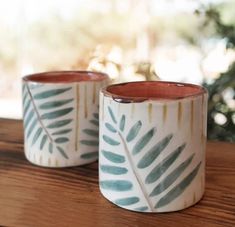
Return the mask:
[[[225, 1], [224, 1], [225, 2]], [[228, 1], [230, 3], [234, 1]], [[226, 4], [225, 4], [226, 5]], [[200, 16], [202, 34], [205, 31], [204, 39], [211, 39], [208, 30], [213, 28], [213, 36], [216, 37], [217, 43], [223, 43], [226, 46], [225, 52], [228, 54], [235, 50], [235, 23], [232, 17], [230, 22], [227, 20], [227, 8], [234, 7], [228, 4], [225, 8], [221, 4], [209, 4], [202, 6], [195, 11]], [[227, 18], [224, 20], [224, 18]], [[200, 44], [199, 44], [200, 45]], [[198, 46], [199, 46], [198, 45]], [[231, 61], [231, 60], [230, 60]], [[229, 63], [229, 61], [227, 62]], [[203, 86], [208, 90], [208, 113], [207, 113], [207, 137], [210, 140], [220, 140], [235, 142], [235, 61], [229, 63], [225, 72], [216, 76], [216, 79], [204, 79]], [[220, 70], [219, 70], [220, 71]], [[213, 76], [213, 78], [215, 78]], [[219, 121], [224, 119], [223, 121]]]

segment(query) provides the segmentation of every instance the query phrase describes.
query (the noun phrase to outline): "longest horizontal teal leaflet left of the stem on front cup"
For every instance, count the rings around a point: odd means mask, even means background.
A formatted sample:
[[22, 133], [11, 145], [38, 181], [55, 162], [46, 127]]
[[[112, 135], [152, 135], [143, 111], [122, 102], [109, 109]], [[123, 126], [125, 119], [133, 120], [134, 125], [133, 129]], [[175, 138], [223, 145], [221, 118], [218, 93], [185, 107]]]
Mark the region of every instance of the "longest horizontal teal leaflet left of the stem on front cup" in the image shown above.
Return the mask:
[[111, 191], [130, 191], [133, 188], [133, 184], [126, 180], [104, 180], [100, 181], [100, 187], [105, 190]]

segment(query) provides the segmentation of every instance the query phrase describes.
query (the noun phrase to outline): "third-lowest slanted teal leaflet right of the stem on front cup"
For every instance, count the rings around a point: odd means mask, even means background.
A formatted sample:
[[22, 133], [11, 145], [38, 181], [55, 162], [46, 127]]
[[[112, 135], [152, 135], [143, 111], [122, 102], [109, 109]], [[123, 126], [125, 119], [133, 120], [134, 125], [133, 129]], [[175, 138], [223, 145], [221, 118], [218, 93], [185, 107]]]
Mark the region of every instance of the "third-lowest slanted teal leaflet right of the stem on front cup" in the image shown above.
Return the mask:
[[178, 147], [175, 151], [169, 154], [165, 159], [163, 159], [153, 170], [147, 175], [145, 179], [146, 184], [151, 184], [157, 181], [167, 170], [168, 168], [175, 162], [175, 160], [179, 157], [182, 150], [185, 148], [185, 144]]

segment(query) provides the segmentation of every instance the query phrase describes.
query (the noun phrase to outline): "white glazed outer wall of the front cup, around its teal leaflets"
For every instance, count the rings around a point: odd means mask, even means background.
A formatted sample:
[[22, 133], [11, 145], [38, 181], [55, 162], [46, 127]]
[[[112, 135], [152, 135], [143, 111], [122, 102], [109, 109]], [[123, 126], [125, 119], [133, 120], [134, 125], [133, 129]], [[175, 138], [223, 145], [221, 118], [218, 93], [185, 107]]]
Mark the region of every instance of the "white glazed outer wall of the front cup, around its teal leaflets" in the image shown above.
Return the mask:
[[[113, 111], [116, 118], [116, 126], [109, 114], [108, 107]], [[119, 129], [119, 122], [122, 115], [126, 116], [125, 130], [122, 132]], [[112, 151], [115, 154], [122, 155], [125, 160], [128, 160], [125, 147], [120, 142], [117, 146], [111, 146], [103, 139], [103, 135], [108, 135], [116, 141], [121, 141], [119, 133], [123, 138], [126, 138], [130, 128], [137, 122], [142, 122], [142, 127], [136, 140], [127, 144], [132, 165], [129, 161], [124, 163], [112, 163], [102, 153], [102, 150]], [[117, 133], [110, 132], [105, 123], [111, 123], [117, 129]], [[207, 93], [202, 95], [192, 96], [179, 100], [148, 100], [137, 103], [119, 103], [113, 100], [110, 95], [100, 93], [100, 147], [99, 147], [99, 182], [100, 191], [109, 201], [116, 203], [121, 198], [137, 197], [139, 201], [132, 201], [128, 205], [120, 205], [125, 209], [140, 211], [140, 212], [170, 212], [187, 208], [197, 203], [203, 196], [205, 188], [205, 145], [206, 145], [206, 125], [207, 125]], [[149, 129], [155, 127], [156, 132], [152, 139], [147, 143], [144, 149], [137, 155], [131, 154], [131, 150], [136, 141], [140, 139]], [[157, 142], [163, 139], [166, 135], [173, 135], [168, 146], [158, 156], [158, 158], [147, 168], [138, 169], [139, 160], [146, 152]], [[145, 179], [147, 174], [164, 158], [174, 151], [177, 147], [186, 143], [176, 161], [166, 170], [166, 172], [155, 183], [146, 184]], [[171, 171], [173, 171], [180, 163], [188, 159], [193, 153], [193, 159], [189, 166], [162, 193], [149, 197], [153, 188], [161, 182]], [[192, 182], [177, 196], [173, 201], [159, 208], [155, 208], [157, 202], [174, 188], [182, 179], [184, 179], [197, 165], [201, 162], [198, 172]], [[113, 175], [101, 170], [102, 165], [113, 165], [126, 168], [128, 171], [123, 175]], [[135, 174], [134, 174], [135, 172]], [[136, 178], [137, 175], [137, 178]], [[104, 181], [115, 180], [131, 180], [133, 187], [127, 191], [109, 190], [102, 187]], [[141, 190], [141, 187], [144, 188]], [[147, 198], [147, 199], [146, 199]], [[145, 208], [144, 208], [145, 207]]]

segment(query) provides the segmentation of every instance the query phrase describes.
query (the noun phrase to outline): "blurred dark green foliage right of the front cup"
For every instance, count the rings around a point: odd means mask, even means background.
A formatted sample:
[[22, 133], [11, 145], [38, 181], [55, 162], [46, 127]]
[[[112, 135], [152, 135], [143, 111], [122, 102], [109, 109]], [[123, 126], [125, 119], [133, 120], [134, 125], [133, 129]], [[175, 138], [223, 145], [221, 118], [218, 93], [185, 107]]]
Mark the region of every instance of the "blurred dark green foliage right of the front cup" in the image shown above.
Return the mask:
[[[235, 24], [226, 24], [213, 6], [196, 13], [203, 14], [204, 26], [212, 24], [215, 35], [226, 42], [228, 49], [235, 51]], [[203, 85], [209, 92], [208, 139], [235, 142], [235, 62], [213, 83], [205, 81]]]

